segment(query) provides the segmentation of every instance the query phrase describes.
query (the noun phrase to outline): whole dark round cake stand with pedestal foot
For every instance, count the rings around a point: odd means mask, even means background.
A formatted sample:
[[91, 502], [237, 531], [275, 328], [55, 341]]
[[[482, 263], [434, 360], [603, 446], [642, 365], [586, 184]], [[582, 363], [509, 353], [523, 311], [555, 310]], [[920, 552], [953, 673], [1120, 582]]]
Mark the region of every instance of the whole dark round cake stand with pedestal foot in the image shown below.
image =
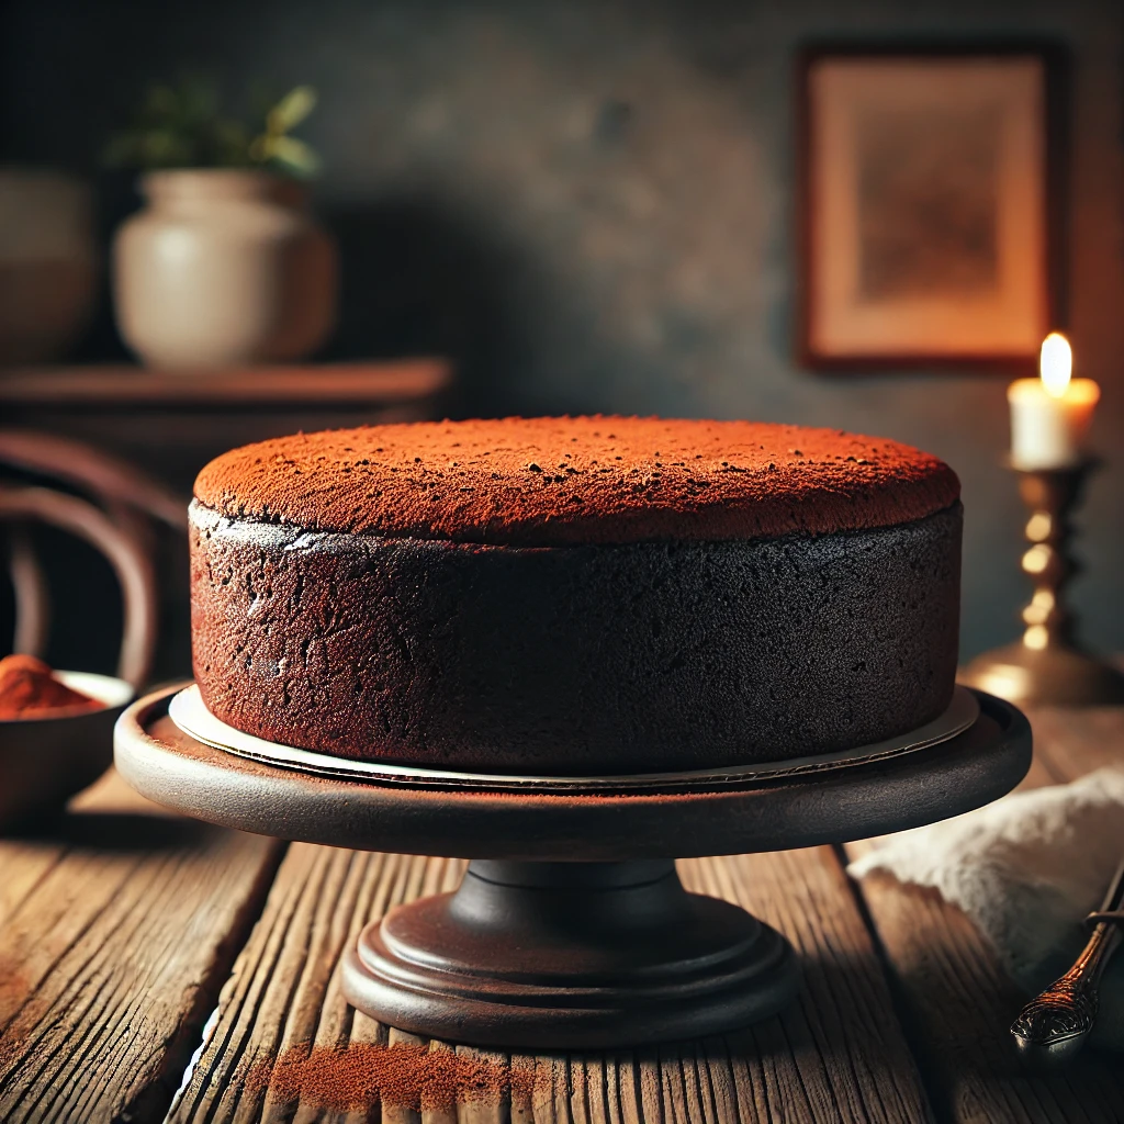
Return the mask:
[[688, 894], [674, 859], [919, 826], [1001, 796], [1031, 761], [1023, 715], [958, 688], [960, 725], [945, 724], [936, 744], [906, 738], [894, 752], [772, 771], [564, 780], [391, 768], [360, 778], [336, 759], [285, 759], [256, 740], [230, 752], [209, 733], [191, 736], [169, 714], [178, 691], [149, 695], [118, 723], [117, 767], [143, 795], [287, 840], [471, 860], [455, 892], [369, 925], [343, 982], [380, 1022], [474, 1045], [624, 1046], [776, 1013], [799, 986], [791, 946], [737, 906]]

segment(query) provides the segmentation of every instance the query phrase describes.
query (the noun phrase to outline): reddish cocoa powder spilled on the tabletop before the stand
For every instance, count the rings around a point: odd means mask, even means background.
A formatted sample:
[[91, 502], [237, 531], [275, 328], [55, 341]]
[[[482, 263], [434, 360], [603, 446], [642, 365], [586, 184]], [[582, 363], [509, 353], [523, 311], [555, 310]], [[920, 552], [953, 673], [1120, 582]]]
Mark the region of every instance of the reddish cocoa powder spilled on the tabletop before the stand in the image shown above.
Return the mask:
[[355, 1042], [345, 1049], [291, 1046], [275, 1061], [255, 1066], [246, 1085], [255, 1090], [269, 1087], [280, 1100], [300, 1098], [333, 1112], [348, 1112], [375, 1103], [415, 1111], [498, 1105], [508, 1096], [528, 1098], [534, 1081], [533, 1071], [495, 1058], [427, 1045]]

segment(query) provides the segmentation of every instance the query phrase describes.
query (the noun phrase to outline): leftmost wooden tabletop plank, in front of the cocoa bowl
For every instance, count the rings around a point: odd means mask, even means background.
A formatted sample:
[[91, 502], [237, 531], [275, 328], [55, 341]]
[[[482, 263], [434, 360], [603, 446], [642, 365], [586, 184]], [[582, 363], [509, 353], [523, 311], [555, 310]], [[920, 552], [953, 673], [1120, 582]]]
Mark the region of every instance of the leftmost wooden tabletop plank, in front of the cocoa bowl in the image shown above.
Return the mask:
[[0, 841], [0, 1120], [163, 1118], [281, 851], [114, 773]]

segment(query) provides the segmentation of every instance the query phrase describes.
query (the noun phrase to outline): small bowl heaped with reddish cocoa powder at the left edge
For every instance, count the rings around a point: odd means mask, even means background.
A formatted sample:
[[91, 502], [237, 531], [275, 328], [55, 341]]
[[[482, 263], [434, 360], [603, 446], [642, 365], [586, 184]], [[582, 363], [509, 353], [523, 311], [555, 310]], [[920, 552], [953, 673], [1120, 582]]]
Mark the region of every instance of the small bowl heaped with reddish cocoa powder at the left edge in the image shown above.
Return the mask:
[[0, 660], [0, 831], [60, 812], [109, 768], [114, 723], [135, 694], [112, 676]]

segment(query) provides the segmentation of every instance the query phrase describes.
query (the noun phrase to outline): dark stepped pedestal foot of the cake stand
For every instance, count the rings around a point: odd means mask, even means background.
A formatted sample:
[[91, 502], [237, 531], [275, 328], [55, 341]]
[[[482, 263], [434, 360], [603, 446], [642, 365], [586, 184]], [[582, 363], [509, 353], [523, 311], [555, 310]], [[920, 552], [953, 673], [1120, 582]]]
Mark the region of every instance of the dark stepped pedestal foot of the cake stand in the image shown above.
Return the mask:
[[789, 943], [744, 909], [688, 894], [670, 860], [470, 863], [454, 894], [368, 926], [348, 1001], [454, 1042], [587, 1049], [695, 1036], [780, 1010]]

